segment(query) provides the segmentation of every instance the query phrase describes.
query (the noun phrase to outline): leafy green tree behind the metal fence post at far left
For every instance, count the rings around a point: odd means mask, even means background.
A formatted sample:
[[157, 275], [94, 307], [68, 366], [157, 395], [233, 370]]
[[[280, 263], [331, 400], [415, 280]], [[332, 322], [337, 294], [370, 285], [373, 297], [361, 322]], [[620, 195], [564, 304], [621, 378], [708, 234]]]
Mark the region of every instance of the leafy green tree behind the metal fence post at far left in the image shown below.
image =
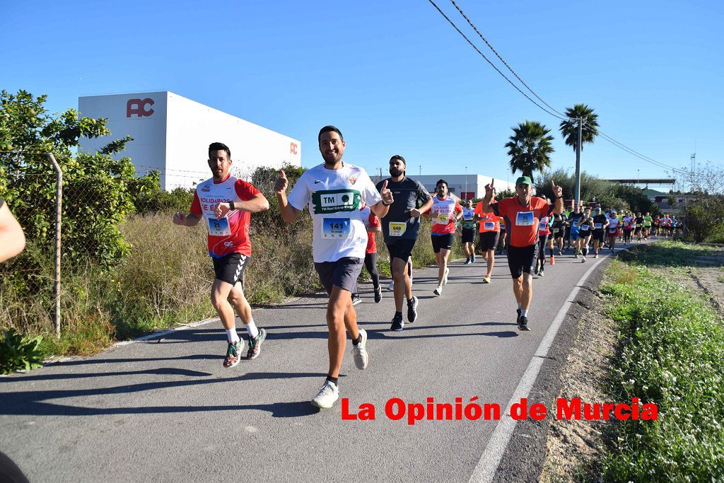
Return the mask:
[[[20, 91], [0, 95], [0, 196], [22, 224], [28, 239], [51, 253], [55, 241], [56, 175], [47, 153], [53, 153], [63, 173], [62, 255], [75, 265], [90, 257], [110, 266], [127, 255], [118, 225], [133, 208], [131, 190], [143, 190], [153, 180], [135, 178], [130, 159], [114, 160], [132, 140], [114, 140], [96, 154], [73, 154], [81, 137], [109, 134], [106, 119], [79, 118], [74, 109], [50, 115], [46, 96], [33, 98]], [[37, 260], [23, 253], [11, 262], [34, 266]], [[12, 271], [12, 266], [9, 271]]]

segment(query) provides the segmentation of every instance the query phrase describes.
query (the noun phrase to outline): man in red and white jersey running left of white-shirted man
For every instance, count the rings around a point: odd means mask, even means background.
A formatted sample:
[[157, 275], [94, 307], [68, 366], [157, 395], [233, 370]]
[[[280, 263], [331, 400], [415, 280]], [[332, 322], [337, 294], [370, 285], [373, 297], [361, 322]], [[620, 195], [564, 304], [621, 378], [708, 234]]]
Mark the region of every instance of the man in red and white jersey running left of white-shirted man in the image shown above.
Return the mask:
[[[236, 332], [234, 309], [249, 335], [246, 358], [256, 358], [266, 331], [259, 329], [244, 295], [244, 271], [251, 258], [249, 222], [251, 214], [269, 209], [269, 202], [253, 185], [230, 175], [231, 150], [224, 143], [209, 145], [209, 169], [212, 177], [196, 186], [188, 214], [177, 211], [174, 224], [194, 227], [201, 219], [209, 230], [209, 255], [214, 261], [211, 303], [227, 332], [224, 367], [240, 361], [243, 343]], [[232, 308], [233, 306], [233, 308]]]

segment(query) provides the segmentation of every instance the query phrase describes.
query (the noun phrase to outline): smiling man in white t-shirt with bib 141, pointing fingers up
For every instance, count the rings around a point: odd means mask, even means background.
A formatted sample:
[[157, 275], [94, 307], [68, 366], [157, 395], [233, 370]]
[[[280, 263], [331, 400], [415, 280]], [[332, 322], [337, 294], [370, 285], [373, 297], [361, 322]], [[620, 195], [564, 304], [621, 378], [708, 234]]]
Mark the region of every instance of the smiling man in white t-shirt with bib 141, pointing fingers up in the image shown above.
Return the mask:
[[367, 333], [357, 327], [357, 314], [351, 298], [367, 246], [367, 230], [360, 203], [364, 201], [377, 217], [382, 218], [393, 198], [387, 183], [378, 192], [364, 169], [342, 162], [345, 140], [337, 127], [322, 127], [318, 140], [324, 164], [304, 172], [288, 198], [287, 177], [284, 171], [280, 171], [274, 190], [285, 222], [294, 222], [305, 206], [309, 207], [312, 217], [314, 268], [329, 294], [329, 372], [312, 404], [331, 408], [340, 397], [337, 378], [347, 343], [345, 328], [352, 337], [355, 365], [358, 369], [365, 369], [369, 364]]

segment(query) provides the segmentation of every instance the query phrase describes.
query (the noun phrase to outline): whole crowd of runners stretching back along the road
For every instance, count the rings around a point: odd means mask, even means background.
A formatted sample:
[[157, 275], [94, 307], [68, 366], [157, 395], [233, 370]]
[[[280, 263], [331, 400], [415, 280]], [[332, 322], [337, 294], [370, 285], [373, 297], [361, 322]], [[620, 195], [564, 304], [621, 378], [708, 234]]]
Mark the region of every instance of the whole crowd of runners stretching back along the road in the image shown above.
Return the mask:
[[[390, 158], [390, 177], [375, 185], [363, 168], [342, 161], [345, 140], [337, 127], [322, 127], [318, 140], [324, 163], [304, 172], [288, 194], [289, 182], [285, 172], [280, 171], [274, 193], [287, 223], [295, 222], [308, 208], [313, 226], [314, 267], [329, 295], [329, 367], [324, 384], [312, 399], [319, 408], [331, 408], [339, 398], [338, 378], [348, 333], [355, 366], [366, 369], [369, 364], [367, 334], [358, 327], [354, 306], [361, 301], [357, 284], [363, 266], [372, 279], [374, 302], [382, 301], [377, 232], [382, 232], [390, 253], [392, 282], [388, 289], [393, 291], [395, 301], [390, 330], [399, 332], [405, 323], [411, 324], [418, 318], [411, 256], [418, 241], [421, 217], [431, 220], [430, 240], [438, 266], [434, 295], [441, 296], [445, 290], [450, 275], [448, 262], [459, 226], [465, 263], [478, 262], [476, 251], [485, 261], [484, 283], [492, 282], [495, 253], [507, 256], [518, 304], [516, 322], [521, 331], [529, 330], [533, 276], [543, 277], [545, 266], [554, 265], [556, 256], [568, 253], [585, 262], [591, 251], [594, 258], [602, 250], [613, 253], [617, 241], [629, 243], [636, 238], [640, 242], [654, 235], [673, 237], [681, 230], [679, 220], [668, 216], [654, 219], [649, 213], [602, 211], [600, 206], [583, 204], [566, 212], [559, 186], [552, 183], [552, 200], [536, 197], [527, 176], [515, 181], [515, 196], [496, 201], [491, 181], [476, 206], [470, 200], [462, 206], [445, 180], [437, 181], [431, 196], [424, 185], [406, 176], [405, 159], [400, 155]], [[251, 259], [251, 214], [269, 209], [264, 195], [250, 183], [232, 176], [231, 167], [230, 149], [223, 143], [212, 143], [209, 168], [213, 176], [197, 186], [188, 213], [173, 215], [174, 224], [190, 227], [203, 220], [208, 227], [209, 255], [216, 274], [211, 303], [227, 332], [223, 363], [227, 368], [239, 364], [245, 345], [236, 331], [235, 311], [248, 334], [245, 358], [259, 356], [266, 338], [266, 331], [256, 326], [246, 301], [243, 274]]]

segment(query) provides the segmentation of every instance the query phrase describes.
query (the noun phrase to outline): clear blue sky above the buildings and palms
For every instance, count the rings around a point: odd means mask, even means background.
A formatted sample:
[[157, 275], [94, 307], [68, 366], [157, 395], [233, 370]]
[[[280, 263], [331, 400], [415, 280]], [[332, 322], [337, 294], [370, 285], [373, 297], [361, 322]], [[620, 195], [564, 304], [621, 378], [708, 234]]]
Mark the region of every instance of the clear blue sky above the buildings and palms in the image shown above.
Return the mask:
[[[494, 59], [449, 0], [436, 3]], [[557, 110], [592, 106], [603, 132], [662, 163], [689, 167], [696, 146], [699, 164], [724, 167], [724, 49], [715, 34], [724, 2], [458, 5]], [[402, 154], [410, 174], [468, 167], [502, 179], [511, 127], [531, 119], [553, 130], [553, 167], [575, 165], [558, 119], [515, 91], [426, 0], [14, 1], [3, 10], [0, 88], [47, 93], [51, 112], [77, 107], [78, 96], [167, 90], [302, 140], [306, 167], [321, 161], [319, 127], [334, 124], [345, 160], [370, 172]], [[602, 177], [665, 175], [600, 138], [584, 147], [582, 167]]]

